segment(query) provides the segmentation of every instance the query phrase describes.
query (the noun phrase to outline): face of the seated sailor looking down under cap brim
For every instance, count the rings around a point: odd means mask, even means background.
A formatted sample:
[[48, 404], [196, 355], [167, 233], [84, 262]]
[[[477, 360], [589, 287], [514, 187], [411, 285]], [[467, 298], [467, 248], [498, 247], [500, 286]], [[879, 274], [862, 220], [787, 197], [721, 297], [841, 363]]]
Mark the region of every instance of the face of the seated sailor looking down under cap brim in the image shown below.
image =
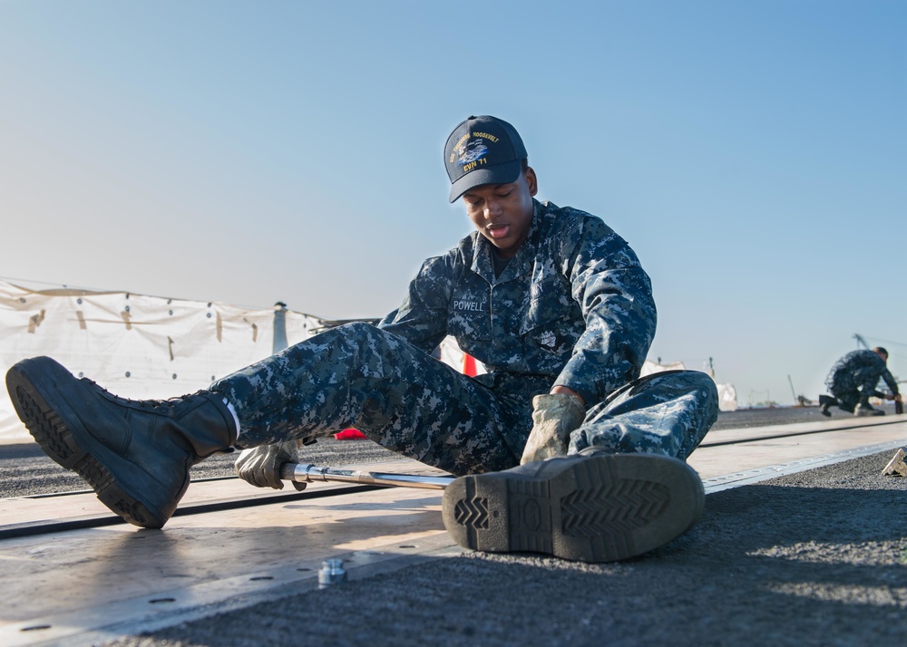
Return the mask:
[[512, 258], [532, 227], [532, 196], [538, 181], [532, 168], [510, 184], [483, 184], [463, 194], [466, 213], [502, 258]]

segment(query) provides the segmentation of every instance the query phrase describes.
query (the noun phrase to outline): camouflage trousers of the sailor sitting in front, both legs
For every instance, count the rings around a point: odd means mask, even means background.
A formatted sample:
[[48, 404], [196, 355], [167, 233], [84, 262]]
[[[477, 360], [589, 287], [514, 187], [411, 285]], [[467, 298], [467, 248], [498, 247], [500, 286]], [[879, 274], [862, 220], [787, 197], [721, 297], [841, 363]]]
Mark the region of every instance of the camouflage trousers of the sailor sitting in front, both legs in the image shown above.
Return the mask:
[[[467, 377], [367, 323], [332, 328], [211, 385], [237, 412], [239, 447], [327, 436], [346, 428], [454, 475], [519, 464], [532, 396], [551, 378]], [[686, 459], [717, 418], [715, 383], [701, 372], [633, 381], [593, 406], [573, 432], [587, 447]]]

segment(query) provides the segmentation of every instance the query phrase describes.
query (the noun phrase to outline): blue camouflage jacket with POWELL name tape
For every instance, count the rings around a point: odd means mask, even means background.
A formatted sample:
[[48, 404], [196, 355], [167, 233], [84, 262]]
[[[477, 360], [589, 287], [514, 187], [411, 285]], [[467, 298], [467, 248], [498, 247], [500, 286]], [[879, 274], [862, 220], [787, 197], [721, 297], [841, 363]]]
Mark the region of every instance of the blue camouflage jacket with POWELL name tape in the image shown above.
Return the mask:
[[379, 326], [425, 352], [451, 334], [488, 381], [504, 372], [544, 391], [561, 384], [587, 406], [639, 377], [655, 335], [652, 287], [600, 218], [536, 200], [529, 234], [498, 277], [492, 254], [475, 231], [429, 258]]

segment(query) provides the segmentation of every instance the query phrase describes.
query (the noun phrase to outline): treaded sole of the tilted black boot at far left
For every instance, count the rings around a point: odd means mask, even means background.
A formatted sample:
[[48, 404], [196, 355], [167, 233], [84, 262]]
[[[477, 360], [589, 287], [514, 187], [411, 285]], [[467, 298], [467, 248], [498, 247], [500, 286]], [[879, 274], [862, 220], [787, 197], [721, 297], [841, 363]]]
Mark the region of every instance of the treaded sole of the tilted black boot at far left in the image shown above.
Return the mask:
[[[54, 384], [53, 367], [44, 367], [38, 360], [24, 360], [6, 373], [6, 390], [19, 419], [44, 453], [63, 468], [71, 469], [93, 488], [98, 499], [114, 513], [134, 526], [160, 528], [167, 519], [155, 514], [141, 500], [132, 497], [116, 481], [112, 472], [83, 448], [79, 438], [91, 447], [95, 444], [78, 417], [63, 399], [54, 399], [36, 385], [36, 381]], [[64, 369], [63, 369], [64, 370]], [[69, 377], [72, 377], [71, 375]], [[52, 406], [49, 401], [54, 401]], [[73, 430], [81, 430], [81, 433]], [[97, 449], [98, 453], [102, 449]]]

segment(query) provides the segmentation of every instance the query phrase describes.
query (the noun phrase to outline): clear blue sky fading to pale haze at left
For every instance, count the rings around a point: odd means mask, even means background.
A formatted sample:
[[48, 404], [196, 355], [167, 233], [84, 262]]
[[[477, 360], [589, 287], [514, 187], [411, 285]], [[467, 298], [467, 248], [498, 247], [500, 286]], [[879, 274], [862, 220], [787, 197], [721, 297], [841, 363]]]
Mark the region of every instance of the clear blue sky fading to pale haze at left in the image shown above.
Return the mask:
[[442, 150], [493, 114], [637, 251], [650, 358], [790, 403], [859, 333], [907, 379], [905, 33], [872, 0], [0, 0], [0, 277], [381, 316], [470, 232]]

